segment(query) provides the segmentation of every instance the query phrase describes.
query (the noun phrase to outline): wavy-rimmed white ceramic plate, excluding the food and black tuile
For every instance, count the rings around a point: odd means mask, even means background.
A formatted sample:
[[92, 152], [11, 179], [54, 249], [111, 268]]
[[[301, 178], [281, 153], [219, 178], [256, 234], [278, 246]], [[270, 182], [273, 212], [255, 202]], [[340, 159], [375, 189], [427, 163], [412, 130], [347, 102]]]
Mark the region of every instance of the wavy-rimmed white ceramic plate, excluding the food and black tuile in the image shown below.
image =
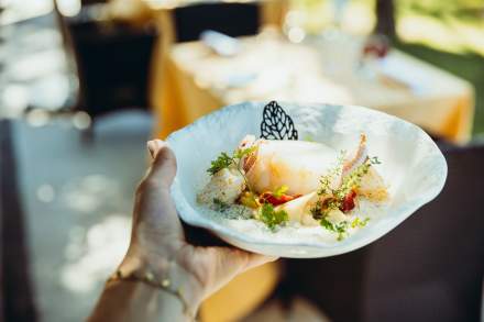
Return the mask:
[[[207, 168], [220, 152], [232, 152], [246, 134], [261, 133], [266, 103], [245, 102], [206, 115], [167, 138], [178, 170], [172, 196], [182, 219], [212, 231], [228, 243], [255, 253], [282, 257], [326, 257], [343, 254], [382, 237], [442, 190], [447, 163], [433, 141], [418, 126], [361, 107], [279, 102], [294, 120], [299, 140], [322, 142], [334, 148], [354, 146], [367, 135], [369, 152], [378, 156], [378, 173], [389, 185], [391, 203], [341, 242], [328, 241], [322, 227], [287, 227], [276, 233], [255, 220], [219, 220], [205, 214], [196, 196], [209, 180]], [[286, 231], [284, 231], [286, 230]]]

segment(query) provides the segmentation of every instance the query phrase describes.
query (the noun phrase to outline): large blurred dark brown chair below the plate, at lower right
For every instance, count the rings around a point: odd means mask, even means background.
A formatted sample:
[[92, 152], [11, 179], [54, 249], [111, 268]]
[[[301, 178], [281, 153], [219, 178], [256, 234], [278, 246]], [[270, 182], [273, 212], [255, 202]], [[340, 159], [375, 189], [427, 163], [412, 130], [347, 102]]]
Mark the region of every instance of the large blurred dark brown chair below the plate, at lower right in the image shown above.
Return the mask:
[[362, 249], [288, 260], [283, 295], [307, 297], [337, 322], [479, 321], [484, 145], [444, 155], [449, 177], [435, 201]]

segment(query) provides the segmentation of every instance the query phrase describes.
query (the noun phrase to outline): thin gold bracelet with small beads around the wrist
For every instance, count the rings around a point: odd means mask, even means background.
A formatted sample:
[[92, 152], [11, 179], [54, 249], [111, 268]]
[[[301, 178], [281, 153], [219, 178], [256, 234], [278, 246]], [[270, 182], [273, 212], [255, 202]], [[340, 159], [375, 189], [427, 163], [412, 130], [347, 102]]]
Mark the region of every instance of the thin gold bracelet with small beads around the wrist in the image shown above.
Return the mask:
[[184, 308], [184, 313], [188, 315], [190, 321], [196, 321], [195, 314], [190, 311], [188, 302], [185, 300], [185, 297], [182, 292], [182, 289], [180, 288], [173, 288], [173, 285], [172, 285], [172, 281], [169, 280], [169, 278], [165, 278], [165, 277], [164, 278], [156, 278], [155, 275], [150, 270], [145, 270], [144, 273], [131, 271], [131, 273], [128, 273], [124, 275], [121, 271], [121, 269], [118, 269], [114, 274], [112, 274], [108, 278], [106, 284], [109, 284], [112, 281], [121, 281], [121, 280], [142, 281], [142, 282], [147, 284], [152, 287], [163, 289], [164, 291], [170, 293], [172, 296], [174, 296], [175, 298], [177, 298], [182, 302], [182, 306]]

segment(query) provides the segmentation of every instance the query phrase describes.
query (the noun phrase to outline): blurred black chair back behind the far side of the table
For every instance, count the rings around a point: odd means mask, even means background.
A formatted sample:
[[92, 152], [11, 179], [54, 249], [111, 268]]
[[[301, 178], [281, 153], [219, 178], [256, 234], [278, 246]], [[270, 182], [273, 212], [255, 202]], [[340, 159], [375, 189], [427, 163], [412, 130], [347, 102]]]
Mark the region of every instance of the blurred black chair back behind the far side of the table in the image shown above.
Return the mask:
[[196, 41], [206, 30], [233, 37], [254, 35], [261, 21], [260, 5], [262, 2], [215, 2], [176, 8], [173, 15], [176, 41]]

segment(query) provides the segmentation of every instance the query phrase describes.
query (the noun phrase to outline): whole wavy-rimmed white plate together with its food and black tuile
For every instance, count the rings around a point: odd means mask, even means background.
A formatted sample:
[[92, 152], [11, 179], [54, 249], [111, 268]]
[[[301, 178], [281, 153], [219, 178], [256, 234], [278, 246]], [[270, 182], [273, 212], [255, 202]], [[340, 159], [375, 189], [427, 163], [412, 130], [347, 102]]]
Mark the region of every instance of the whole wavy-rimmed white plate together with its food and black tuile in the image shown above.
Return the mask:
[[167, 142], [182, 220], [271, 256], [367, 245], [436, 198], [447, 177], [421, 129], [353, 106], [244, 102]]

